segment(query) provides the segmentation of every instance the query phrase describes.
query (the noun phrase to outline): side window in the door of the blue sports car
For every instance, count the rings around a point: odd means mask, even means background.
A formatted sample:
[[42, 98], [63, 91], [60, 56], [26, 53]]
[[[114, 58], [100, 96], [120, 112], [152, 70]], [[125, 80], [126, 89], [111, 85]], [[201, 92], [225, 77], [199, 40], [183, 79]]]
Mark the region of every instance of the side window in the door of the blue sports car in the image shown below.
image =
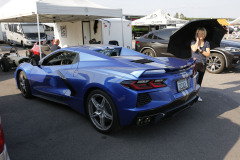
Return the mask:
[[50, 57], [46, 58], [43, 66], [56, 66], [56, 65], [69, 65], [78, 62], [78, 53], [62, 51], [57, 52]]

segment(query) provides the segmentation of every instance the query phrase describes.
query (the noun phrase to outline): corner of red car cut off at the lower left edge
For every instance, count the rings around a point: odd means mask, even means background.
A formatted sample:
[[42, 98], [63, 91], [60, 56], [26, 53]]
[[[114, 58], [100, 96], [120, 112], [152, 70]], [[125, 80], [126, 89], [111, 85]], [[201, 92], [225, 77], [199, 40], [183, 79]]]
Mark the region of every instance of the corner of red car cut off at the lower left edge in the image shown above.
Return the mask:
[[10, 160], [7, 152], [7, 147], [5, 145], [5, 139], [4, 139], [2, 124], [1, 124], [1, 117], [0, 117], [0, 160]]

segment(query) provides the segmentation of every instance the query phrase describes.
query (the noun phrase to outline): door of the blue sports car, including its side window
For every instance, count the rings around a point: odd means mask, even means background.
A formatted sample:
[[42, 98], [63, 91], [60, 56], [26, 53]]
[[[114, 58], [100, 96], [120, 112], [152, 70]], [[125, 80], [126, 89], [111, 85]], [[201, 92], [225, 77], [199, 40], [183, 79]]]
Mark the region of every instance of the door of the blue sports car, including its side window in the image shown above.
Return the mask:
[[79, 62], [78, 53], [59, 51], [40, 61], [31, 70], [30, 83], [35, 95], [64, 101], [73, 94], [68, 78], [74, 75]]

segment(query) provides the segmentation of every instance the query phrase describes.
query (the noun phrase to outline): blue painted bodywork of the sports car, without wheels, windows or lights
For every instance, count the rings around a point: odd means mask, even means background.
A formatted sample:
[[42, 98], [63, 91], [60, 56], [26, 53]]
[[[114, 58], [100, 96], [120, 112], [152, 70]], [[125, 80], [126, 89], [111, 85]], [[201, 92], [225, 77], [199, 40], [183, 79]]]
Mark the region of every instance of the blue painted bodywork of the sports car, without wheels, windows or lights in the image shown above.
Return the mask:
[[[44, 57], [40, 64], [52, 54], [64, 50], [79, 53], [80, 62], [40, 67], [24, 63], [15, 72], [16, 81], [19, 71], [22, 70], [29, 79], [33, 95], [69, 105], [84, 115], [86, 114], [84, 108], [86, 92], [91, 88], [99, 88], [107, 92], [115, 102], [120, 125], [131, 124], [139, 112], [164, 106], [199, 90], [200, 86], [196, 84], [196, 78], [193, 78], [193, 68], [190, 68], [194, 64], [192, 59], [186, 61], [177, 58], [153, 58], [126, 48], [121, 48], [121, 56], [117, 57], [108, 57], [96, 52], [106, 48], [121, 47], [98, 45], [60, 49]], [[146, 64], [131, 62], [144, 58], [154, 62]], [[171, 71], [184, 67], [189, 68], [182, 73], [162, 72], [163, 69]], [[157, 74], [147, 74], [151, 71], [156, 71]], [[74, 88], [76, 92], [74, 96], [71, 96], [68, 86], [59, 74], [63, 75]], [[187, 79], [190, 87], [183, 92], [178, 92], [176, 83], [183, 78]], [[166, 79], [167, 87], [135, 91], [120, 84], [124, 80], [142, 79]], [[148, 93], [152, 101], [142, 107], [136, 107], [137, 96], [140, 93]]]

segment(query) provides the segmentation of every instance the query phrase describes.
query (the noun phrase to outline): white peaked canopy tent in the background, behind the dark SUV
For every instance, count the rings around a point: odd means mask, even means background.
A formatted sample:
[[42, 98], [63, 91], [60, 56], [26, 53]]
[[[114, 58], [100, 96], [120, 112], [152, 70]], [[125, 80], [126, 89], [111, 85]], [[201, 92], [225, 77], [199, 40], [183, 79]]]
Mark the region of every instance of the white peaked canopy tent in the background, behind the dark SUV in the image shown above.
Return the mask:
[[187, 20], [177, 19], [167, 15], [161, 9], [149, 14], [143, 18], [132, 22], [134, 26], [149, 26], [149, 25], [168, 25], [168, 24], [185, 24]]

